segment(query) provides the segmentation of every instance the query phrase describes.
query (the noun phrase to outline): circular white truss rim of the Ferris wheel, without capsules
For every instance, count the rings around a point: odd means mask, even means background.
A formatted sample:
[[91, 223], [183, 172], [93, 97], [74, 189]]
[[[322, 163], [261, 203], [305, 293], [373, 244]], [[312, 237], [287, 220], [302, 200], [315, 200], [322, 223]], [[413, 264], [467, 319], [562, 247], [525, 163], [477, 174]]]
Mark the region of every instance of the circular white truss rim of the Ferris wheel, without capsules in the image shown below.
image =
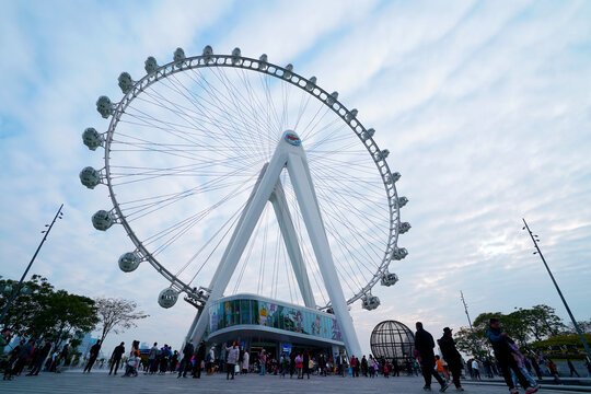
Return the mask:
[[[102, 179], [106, 179], [106, 185], [109, 192], [109, 198], [113, 202], [113, 209], [111, 213], [114, 217], [114, 222], [119, 223], [126, 230], [131, 242], [136, 246], [136, 253], [141, 262], [149, 262], [150, 265], [157, 271], [159, 271], [171, 285], [170, 288], [174, 289], [177, 293], [185, 292], [189, 298], [199, 300], [199, 296], [195, 292], [195, 287], [192, 287], [181, 280], [176, 275], [172, 274], [163, 264], [161, 264], [155, 256], [143, 245], [142, 241], [136, 235], [136, 232], [126, 220], [124, 212], [116, 198], [116, 193], [111, 176], [111, 146], [113, 142], [113, 136], [115, 135], [117, 125], [125, 114], [126, 108], [131, 102], [138, 97], [147, 88], [154, 84], [160, 80], [164, 80], [170, 76], [193, 70], [193, 69], [210, 69], [210, 68], [234, 68], [248, 71], [256, 71], [263, 74], [275, 77], [278, 80], [290, 83], [304, 92], [314, 96], [326, 107], [331, 108], [343, 121], [351, 129], [351, 131], [359, 138], [359, 141], [366, 147], [368, 154], [370, 154], [375, 163], [378, 172], [382, 178], [382, 183], [386, 193], [387, 206], [390, 210], [390, 229], [389, 239], [385, 243], [386, 248], [383, 252], [382, 260], [378, 270], [373, 274], [367, 285], [364, 285], [358, 292], [347, 299], [347, 304], [352, 304], [359, 299], [371, 294], [371, 289], [380, 281], [380, 279], [389, 274], [389, 266], [393, 258], [393, 253], [397, 250], [398, 229], [399, 229], [399, 205], [398, 195], [395, 187], [395, 179], [393, 179], [393, 173], [390, 170], [385, 158], [381, 158], [381, 150], [379, 149], [375, 140], [373, 139], [372, 129], [367, 129], [358, 119], [357, 114], [349, 111], [343, 105], [336, 97], [329, 94], [315, 83], [315, 80], [306, 79], [292, 69], [287, 69], [269, 61], [257, 60], [254, 58], [235, 56], [235, 55], [200, 55], [187, 57], [181, 60], [173, 60], [163, 66], [159, 66], [152, 72], [149, 72], [143, 78], [134, 82], [132, 88], [124, 94], [124, 97], [119, 103], [113, 106], [111, 114], [112, 119], [108, 125], [108, 129], [105, 132], [105, 166], [104, 176]], [[201, 287], [200, 289], [208, 290]], [[331, 303], [322, 305], [318, 309], [328, 309]]]

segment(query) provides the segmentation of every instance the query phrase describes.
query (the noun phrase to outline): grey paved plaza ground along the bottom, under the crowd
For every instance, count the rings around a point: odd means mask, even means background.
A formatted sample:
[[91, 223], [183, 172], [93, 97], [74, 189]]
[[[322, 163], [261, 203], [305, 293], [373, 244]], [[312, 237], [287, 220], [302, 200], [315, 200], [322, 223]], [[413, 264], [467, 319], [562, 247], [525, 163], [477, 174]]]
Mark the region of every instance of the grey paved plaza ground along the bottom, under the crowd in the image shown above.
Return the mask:
[[[248, 374], [225, 380], [225, 375], [215, 374], [197, 379], [177, 379], [175, 374], [144, 375], [138, 378], [109, 376], [105, 372], [82, 374], [67, 372], [62, 374], [43, 373], [38, 376], [19, 376], [13, 381], [0, 381], [0, 393], [425, 393], [421, 378], [356, 378], [350, 376], [311, 376], [310, 380], [282, 379], [275, 375], [259, 376]], [[436, 387], [437, 384], [433, 385]], [[466, 382], [466, 393], [507, 394], [501, 385], [474, 385]], [[433, 393], [437, 393], [433, 390]], [[449, 393], [455, 393], [452, 386]], [[544, 390], [547, 393], [567, 393], [566, 391]], [[523, 391], [521, 391], [523, 393]], [[570, 391], [569, 393], [572, 393]]]

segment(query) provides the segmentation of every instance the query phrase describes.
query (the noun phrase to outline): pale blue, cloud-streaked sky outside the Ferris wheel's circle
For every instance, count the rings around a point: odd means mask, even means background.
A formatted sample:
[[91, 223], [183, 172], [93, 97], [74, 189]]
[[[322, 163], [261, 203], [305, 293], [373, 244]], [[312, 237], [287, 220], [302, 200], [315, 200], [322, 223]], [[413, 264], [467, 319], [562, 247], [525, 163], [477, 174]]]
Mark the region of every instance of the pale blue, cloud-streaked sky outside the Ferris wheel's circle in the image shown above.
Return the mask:
[[375, 311], [351, 309], [369, 352], [383, 320], [440, 335], [483, 312], [547, 304], [567, 313], [533, 246], [525, 218], [578, 320], [591, 318], [591, 3], [586, 1], [0, 1], [0, 275], [19, 278], [60, 204], [59, 221], [31, 274], [57, 288], [138, 302], [150, 314], [119, 340], [178, 347], [193, 321], [142, 265], [117, 267], [131, 248], [120, 227], [90, 217], [111, 209], [105, 188], [78, 178], [101, 155], [81, 132], [107, 123], [100, 95], [119, 97], [121, 71], [142, 74], [175, 48], [199, 55], [263, 53], [315, 74], [375, 128], [403, 176], [409, 251], [378, 286]]

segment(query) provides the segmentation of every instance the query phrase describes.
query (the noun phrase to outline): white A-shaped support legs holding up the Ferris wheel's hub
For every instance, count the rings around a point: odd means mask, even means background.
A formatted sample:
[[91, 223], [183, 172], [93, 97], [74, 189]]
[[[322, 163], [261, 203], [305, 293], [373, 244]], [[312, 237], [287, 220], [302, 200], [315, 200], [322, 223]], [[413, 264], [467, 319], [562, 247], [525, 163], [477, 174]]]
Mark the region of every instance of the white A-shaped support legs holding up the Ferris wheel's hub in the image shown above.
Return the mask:
[[[223, 296], [223, 292], [228, 287], [234, 270], [236, 269], [237, 263], [268, 200], [275, 200], [275, 211], [280, 212], [280, 215], [278, 215], [278, 220], [280, 221], [280, 225], [281, 221], [283, 223], [283, 227], [281, 228], [283, 240], [288, 251], [289, 248], [292, 251], [293, 256], [290, 254], [290, 259], [296, 275], [298, 276], [298, 273], [301, 275], [301, 278], [298, 278], [298, 282], [302, 291], [302, 297], [305, 298], [308, 296], [304, 294], [308, 291], [311, 292], [303, 259], [298, 262], [298, 259], [301, 258], [301, 251], [297, 243], [297, 236], [291, 217], [289, 216], [289, 210], [287, 210], [288, 215], [282, 213], [286, 210], [287, 205], [281, 207], [281, 205], [285, 204], [285, 195], [281, 195], [282, 187], [279, 182], [279, 175], [286, 165], [291, 178], [291, 183], [293, 184], [293, 189], [296, 192], [300, 210], [302, 211], [308, 235], [312, 243], [312, 247], [321, 269], [324, 286], [328, 292], [333, 311], [343, 334], [347, 352], [349, 356], [360, 356], [361, 347], [359, 346], [359, 340], [357, 339], [357, 335], [355, 333], [352, 318], [349, 315], [343, 288], [338, 281], [328, 239], [326, 236], [316, 194], [314, 192], [312, 177], [310, 176], [305, 152], [301, 147], [300, 138], [293, 131], [289, 130], [285, 132], [283, 138], [277, 146], [277, 149], [266, 169], [264, 167], [262, 170], [262, 176], [257, 181], [255, 189], [251, 194], [251, 198], [248, 198], [244, 212], [236, 224], [236, 228], [234, 229], [230, 243], [228, 244], [218, 269], [213, 275], [213, 279], [211, 280], [211, 285], [209, 287], [211, 290], [209, 299], [207, 300], [202, 312], [196, 317], [197, 322], [194, 322], [192, 325], [194, 326], [194, 329], [190, 336], [193, 337], [194, 341], [198, 341], [205, 334], [207, 324], [209, 322], [209, 306]], [[279, 216], [281, 216], [281, 218], [279, 218]], [[303, 279], [304, 276], [305, 280]], [[309, 300], [309, 302], [313, 302], [313, 298], [312, 300]], [[309, 302], [306, 302], [306, 306]]]

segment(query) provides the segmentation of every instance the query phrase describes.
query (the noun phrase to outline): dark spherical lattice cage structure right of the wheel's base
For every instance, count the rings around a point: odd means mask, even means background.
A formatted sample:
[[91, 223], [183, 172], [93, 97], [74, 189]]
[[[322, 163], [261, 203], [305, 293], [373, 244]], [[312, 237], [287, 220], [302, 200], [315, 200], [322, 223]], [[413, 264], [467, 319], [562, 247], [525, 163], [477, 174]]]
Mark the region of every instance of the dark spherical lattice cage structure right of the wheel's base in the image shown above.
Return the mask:
[[384, 321], [373, 328], [370, 345], [373, 357], [403, 361], [413, 357], [415, 335], [401, 322]]

